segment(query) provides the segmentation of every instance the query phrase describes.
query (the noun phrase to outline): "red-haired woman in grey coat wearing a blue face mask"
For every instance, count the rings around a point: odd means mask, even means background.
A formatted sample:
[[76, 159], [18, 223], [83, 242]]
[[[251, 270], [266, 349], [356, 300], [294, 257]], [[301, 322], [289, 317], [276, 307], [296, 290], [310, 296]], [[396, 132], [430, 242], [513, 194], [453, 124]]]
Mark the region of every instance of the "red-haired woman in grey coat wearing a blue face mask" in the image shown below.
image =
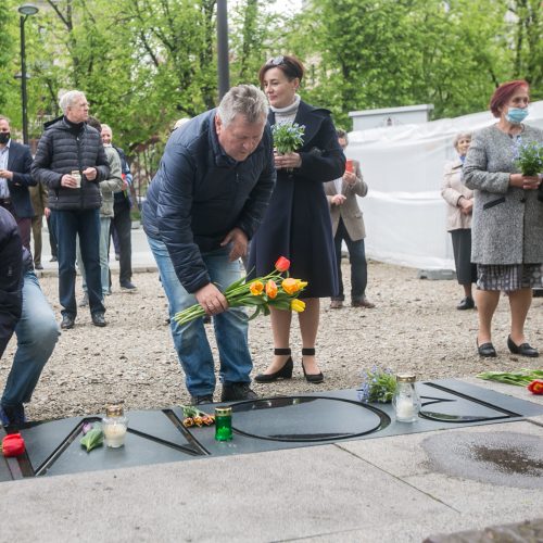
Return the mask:
[[526, 341], [525, 321], [532, 289], [543, 282], [543, 202], [536, 190], [541, 175], [525, 176], [515, 163], [520, 144], [543, 143], [542, 130], [522, 124], [529, 101], [527, 81], [501, 85], [490, 101], [498, 122], [475, 135], [464, 163], [464, 181], [475, 190], [471, 261], [477, 263], [481, 356], [496, 356], [491, 326], [501, 291], [509, 299], [509, 351], [539, 356]]

